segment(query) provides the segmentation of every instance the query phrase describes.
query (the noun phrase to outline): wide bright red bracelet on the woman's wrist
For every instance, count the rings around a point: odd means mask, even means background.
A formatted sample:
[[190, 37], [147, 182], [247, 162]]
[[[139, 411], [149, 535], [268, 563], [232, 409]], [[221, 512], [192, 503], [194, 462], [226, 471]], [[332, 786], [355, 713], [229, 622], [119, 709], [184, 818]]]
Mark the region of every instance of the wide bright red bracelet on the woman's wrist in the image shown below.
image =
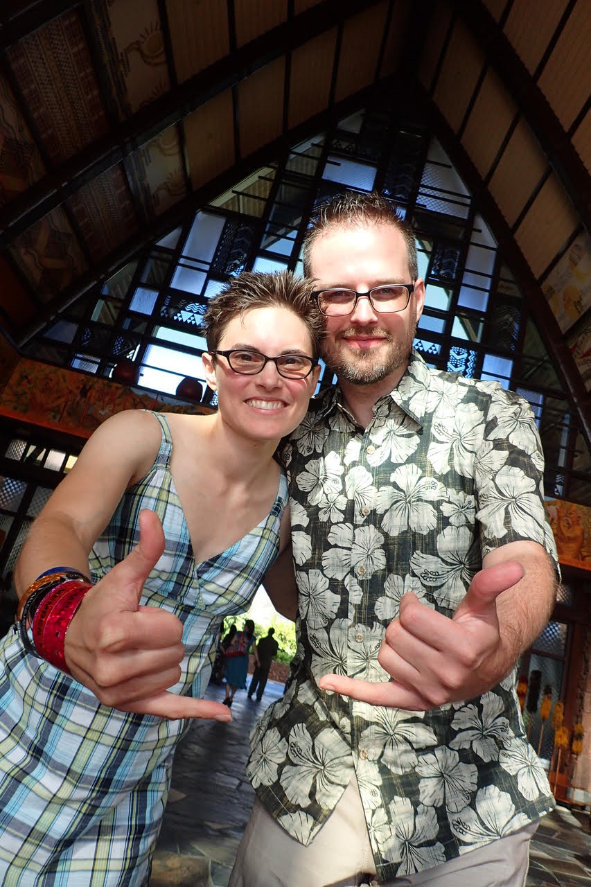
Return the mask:
[[70, 674], [64, 655], [69, 624], [92, 583], [83, 579], [62, 582], [45, 595], [33, 616], [35, 652], [51, 665]]

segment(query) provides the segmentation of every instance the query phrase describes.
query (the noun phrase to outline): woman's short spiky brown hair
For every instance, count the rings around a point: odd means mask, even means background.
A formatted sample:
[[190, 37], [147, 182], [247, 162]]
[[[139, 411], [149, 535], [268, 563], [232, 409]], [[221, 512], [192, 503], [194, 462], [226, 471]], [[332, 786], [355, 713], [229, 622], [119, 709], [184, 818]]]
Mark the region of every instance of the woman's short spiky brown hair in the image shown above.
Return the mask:
[[318, 305], [312, 298], [311, 283], [296, 278], [291, 271], [272, 273], [242, 271], [228, 286], [214, 296], [203, 315], [201, 330], [208, 349], [217, 349], [231, 320], [242, 317], [255, 308], [287, 308], [308, 328], [311, 338], [311, 357], [318, 358], [324, 322]]

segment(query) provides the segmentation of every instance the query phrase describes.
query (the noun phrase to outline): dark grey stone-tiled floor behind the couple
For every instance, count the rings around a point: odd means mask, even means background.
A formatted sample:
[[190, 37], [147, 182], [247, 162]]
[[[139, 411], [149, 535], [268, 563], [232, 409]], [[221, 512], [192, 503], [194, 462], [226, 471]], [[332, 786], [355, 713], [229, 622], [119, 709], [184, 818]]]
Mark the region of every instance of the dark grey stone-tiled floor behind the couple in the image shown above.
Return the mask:
[[[260, 703], [236, 695], [232, 724], [194, 722], [177, 749], [150, 887], [227, 887], [254, 799], [244, 774], [248, 733], [282, 692], [269, 681]], [[224, 693], [210, 685], [206, 695], [221, 702]], [[559, 806], [532, 842], [526, 887], [580, 884], [591, 885], [589, 814]]]

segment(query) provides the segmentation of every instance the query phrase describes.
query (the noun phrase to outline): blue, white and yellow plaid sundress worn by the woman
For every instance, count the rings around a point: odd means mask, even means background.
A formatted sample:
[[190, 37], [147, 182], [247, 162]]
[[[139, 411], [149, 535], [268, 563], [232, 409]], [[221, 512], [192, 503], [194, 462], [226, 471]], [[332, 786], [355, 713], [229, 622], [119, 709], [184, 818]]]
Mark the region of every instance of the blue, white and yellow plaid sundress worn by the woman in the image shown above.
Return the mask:
[[[244, 612], [279, 550], [284, 475], [271, 512], [225, 552], [196, 564], [170, 475], [165, 418], [154, 466], [123, 496], [91, 554], [95, 581], [138, 543], [138, 514], [159, 515], [165, 551], [142, 604], [183, 623], [185, 659], [172, 691], [199, 697], [223, 616]], [[187, 720], [107, 708], [67, 674], [0, 642], [0, 883], [4, 887], [145, 885]]]

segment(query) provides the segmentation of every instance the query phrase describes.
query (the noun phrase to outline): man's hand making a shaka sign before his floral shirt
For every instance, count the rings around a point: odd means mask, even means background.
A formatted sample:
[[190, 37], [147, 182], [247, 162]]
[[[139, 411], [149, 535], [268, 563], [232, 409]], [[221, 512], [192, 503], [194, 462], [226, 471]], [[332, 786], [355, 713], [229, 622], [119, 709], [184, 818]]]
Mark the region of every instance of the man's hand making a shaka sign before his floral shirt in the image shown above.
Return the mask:
[[485, 693], [515, 664], [518, 651], [504, 648], [501, 642], [496, 600], [523, 576], [524, 569], [516, 561], [482, 569], [451, 619], [422, 604], [414, 594], [405, 594], [378, 654], [390, 682], [327, 674], [319, 687], [366, 703], [412, 711]]

